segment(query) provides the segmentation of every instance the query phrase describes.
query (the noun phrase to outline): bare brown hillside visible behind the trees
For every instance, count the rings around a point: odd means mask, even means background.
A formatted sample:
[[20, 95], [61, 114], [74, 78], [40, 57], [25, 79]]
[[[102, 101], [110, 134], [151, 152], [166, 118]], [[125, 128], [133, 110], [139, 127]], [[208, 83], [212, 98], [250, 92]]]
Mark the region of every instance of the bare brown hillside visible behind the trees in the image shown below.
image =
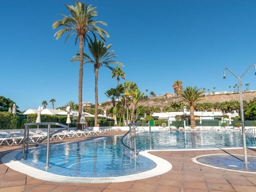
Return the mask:
[[[256, 97], [256, 91], [255, 92], [244, 92], [243, 93], [243, 100], [253, 100], [253, 98]], [[216, 95], [205, 95], [205, 99], [201, 100], [202, 102], [226, 102], [226, 101], [232, 101], [237, 100], [239, 101], [239, 93], [227, 93], [227, 94], [216, 94]], [[165, 96], [157, 96], [157, 97], [149, 97], [148, 99], [140, 100], [137, 104], [137, 106], [159, 106], [159, 108], [163, 109], [164, 106], [170, 106], [172, 102], [179, 102], [179, 97], [165, 97]], [[106, 110], [111, 108], [112, 102], [104, 102], [101, 106], [99, 106], [99, 109]], [[130, 108], [132, 108], [133, 104], [131, 104]]]

